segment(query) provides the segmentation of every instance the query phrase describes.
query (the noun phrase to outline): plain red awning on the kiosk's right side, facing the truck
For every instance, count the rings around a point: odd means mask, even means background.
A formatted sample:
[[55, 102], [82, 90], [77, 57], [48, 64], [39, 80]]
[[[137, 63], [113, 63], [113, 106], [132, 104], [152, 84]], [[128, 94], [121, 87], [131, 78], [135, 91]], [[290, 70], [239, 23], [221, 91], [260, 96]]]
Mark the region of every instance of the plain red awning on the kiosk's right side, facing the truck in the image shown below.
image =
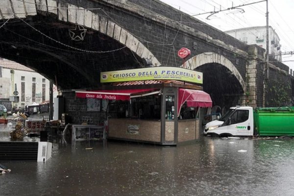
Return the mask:
[[204, 91], [192, 89], [179, 89], [178, 91], [178, 116], [181, 106], [187, 102], [187, 107], [212, 107], [212, 100], [209, 94]]

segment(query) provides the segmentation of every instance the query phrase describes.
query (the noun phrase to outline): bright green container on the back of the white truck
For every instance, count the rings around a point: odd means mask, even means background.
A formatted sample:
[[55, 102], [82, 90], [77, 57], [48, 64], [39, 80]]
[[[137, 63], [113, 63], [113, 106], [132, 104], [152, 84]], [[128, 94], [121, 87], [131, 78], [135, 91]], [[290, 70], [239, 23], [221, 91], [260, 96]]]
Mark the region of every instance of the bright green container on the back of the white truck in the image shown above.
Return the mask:
[[255, 108], [253, 116], [259, 136], [294, 136], [294, 107]]

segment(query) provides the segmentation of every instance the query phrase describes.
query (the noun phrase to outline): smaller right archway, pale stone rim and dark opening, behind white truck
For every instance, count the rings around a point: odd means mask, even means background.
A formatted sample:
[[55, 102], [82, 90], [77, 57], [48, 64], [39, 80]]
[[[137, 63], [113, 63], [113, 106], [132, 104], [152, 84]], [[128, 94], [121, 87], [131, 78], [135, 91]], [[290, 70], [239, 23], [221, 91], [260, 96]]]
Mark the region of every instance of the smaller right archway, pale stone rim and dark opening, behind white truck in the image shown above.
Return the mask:
[[209, 93], [213, 105], [219, 105], [225, 111], [240, 104], [245, 82], [229, 59], [218, 53], [205, 52], [190, 58], [185, 67], [203, 73], [203, 90]]

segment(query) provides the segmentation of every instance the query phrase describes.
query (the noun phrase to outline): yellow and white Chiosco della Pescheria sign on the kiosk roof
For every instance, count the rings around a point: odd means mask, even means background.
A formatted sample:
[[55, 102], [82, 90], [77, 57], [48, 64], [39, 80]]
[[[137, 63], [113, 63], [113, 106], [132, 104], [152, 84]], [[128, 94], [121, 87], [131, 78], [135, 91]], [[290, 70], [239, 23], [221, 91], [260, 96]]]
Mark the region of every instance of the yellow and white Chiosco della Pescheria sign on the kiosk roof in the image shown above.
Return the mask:
[[125, 82], [138, 80], [182, 80], [203, 83], [201, 72], [178, 67], [151, 67], [133, 70], [101, 72], [100, 82]]

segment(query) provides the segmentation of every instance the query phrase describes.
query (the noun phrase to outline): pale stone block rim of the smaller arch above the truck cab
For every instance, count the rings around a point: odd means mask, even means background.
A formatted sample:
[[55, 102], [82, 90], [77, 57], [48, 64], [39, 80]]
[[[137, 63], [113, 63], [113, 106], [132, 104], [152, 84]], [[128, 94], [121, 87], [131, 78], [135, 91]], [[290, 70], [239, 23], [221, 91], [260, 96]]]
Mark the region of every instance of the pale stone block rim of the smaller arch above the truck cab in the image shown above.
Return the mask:
[[[204, 52], [204, 53], [198, 54], [198, 55], [190, 58], [188, 61], [186, 61], [185, 67], [187, 69], [194, 70], [197, 67], [204, 65], [204, 64], [207, 64], [207, 63], [218, 63], [218, 64], [225, 66], [238, 79], [238, 81], [240, 82], [240, 84], [243, 88], [243, 91], [244, 92], [246, 91], [245, 82], [244, 82], [241, 74], [237, 70], [237, 68], [234, 66], [234, 64], [229, 59], [225, 58], [221, 54], [214, 53], [214, 52]], [[181, 67], [183, 67], [183, 65], [181, 65]]]

